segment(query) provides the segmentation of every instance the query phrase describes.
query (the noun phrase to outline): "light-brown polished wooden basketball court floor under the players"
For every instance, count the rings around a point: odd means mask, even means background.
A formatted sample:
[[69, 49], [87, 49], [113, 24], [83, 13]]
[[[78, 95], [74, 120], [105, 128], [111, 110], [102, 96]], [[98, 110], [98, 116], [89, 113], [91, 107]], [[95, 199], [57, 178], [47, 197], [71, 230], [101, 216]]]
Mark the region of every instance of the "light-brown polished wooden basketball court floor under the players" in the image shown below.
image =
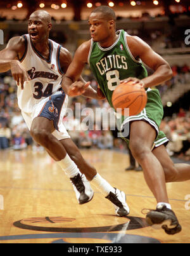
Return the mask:
[[[110, 201], [94, 189], [94, 198], [79, 205], [70, 181], [46, 152], [0, 152], [0, 243], [189, 243], [190, 181], [167, 184], [182, 231], [174, 236], [146, 225], [143, 208], [156, 201], [143, 172], [129, 171], [122, 152], [82, 150], [111, 185], [127, 194], [130, 214], [117, 217]], [[186, 199], [185, 199], [186, 197]], [[188, 207], [189, 206], [189, 207]]]

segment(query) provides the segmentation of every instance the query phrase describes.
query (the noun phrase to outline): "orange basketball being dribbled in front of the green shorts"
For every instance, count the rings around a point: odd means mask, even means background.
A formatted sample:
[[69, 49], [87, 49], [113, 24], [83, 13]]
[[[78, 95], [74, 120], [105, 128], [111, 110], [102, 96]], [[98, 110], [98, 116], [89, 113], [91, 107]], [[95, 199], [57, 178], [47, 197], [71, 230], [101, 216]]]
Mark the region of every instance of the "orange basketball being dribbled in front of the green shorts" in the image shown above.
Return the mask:
[[128, 112], [124, 112], [124, 109], [129, 108], [129, 116], [135, 116], [146, 106], [146, 91], [139, 85], [132, 83], [132, 81], [121, 83], [113, 91], [113, 107], [117, 112], [122, 112], [123, 115], [128, 115]]

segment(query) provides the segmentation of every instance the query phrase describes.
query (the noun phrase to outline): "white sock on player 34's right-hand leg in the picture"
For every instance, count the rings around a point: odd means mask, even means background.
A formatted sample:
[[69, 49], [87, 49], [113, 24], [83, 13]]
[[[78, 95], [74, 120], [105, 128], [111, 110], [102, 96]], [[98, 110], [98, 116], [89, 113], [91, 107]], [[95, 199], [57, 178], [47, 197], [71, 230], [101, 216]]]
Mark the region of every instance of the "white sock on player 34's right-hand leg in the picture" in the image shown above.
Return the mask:
[[95, 187], [97, 187], [97, 189], [99, 189], [104, 196], [108, 196], [110, 191], [115, 193], [115, 189], [111, 187], [111, 185], [105, 179], [103, 179], [99, 173], [97, 173], [96, 176], [94, 176], [94, 178], [91, 180], [91, 184], [95, 185]]

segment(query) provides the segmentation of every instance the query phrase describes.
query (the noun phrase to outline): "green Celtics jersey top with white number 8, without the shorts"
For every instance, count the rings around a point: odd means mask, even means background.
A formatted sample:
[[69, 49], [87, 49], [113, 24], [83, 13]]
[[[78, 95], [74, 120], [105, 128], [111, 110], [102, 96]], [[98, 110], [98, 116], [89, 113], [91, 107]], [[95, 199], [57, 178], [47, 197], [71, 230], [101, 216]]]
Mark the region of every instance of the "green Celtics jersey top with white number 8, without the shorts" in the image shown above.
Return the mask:
[[111, 107], [111, 97], [120, 80], [148, 76], [141, 60], [136, 60], [130, 53], [127, 32], [118, 30], [117, 34], [117, 41], [109, 48], [101, 48], [99, 43], [92, 41], [88, 58], [91, 70]]

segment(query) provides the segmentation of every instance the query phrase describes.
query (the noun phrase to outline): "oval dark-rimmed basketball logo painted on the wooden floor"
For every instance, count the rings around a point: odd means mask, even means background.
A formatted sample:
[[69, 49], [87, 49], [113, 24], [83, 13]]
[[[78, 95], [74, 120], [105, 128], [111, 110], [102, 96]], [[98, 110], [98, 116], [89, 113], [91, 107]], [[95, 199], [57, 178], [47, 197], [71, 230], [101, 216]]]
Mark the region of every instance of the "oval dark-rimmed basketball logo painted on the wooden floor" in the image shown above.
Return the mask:
[[[110, 219], [109, 219], [110, 217]], [[113, 232], [113, 231], [127, 231], [130, 229], [141, 229], [147, 227], [146, 220], [139, 217], [115, 217], [106, 215], [108, 226], [91, 226], [89, 227], [89, 220], [84, 223], [84, 226], [77, 227], [80, 219], [72, 219], [68, 217], [35, 217], [29, 219], [22, 219], [14, 222], [14, 226], [20, 229], [28, 229], [32, 231], [46, 231], [46, 232]], [[99, 216], [101, 219], [101, 217]], [[105, 220], [105, 215], [102, 216]], [[115, 219], [117, 218], [117, 219]], [[83, 220], [84, 221], [84, 220]], [[73, 222], [73, 223], [72, 223]], [[113, 224], [117, 223], [117, 224]]]

